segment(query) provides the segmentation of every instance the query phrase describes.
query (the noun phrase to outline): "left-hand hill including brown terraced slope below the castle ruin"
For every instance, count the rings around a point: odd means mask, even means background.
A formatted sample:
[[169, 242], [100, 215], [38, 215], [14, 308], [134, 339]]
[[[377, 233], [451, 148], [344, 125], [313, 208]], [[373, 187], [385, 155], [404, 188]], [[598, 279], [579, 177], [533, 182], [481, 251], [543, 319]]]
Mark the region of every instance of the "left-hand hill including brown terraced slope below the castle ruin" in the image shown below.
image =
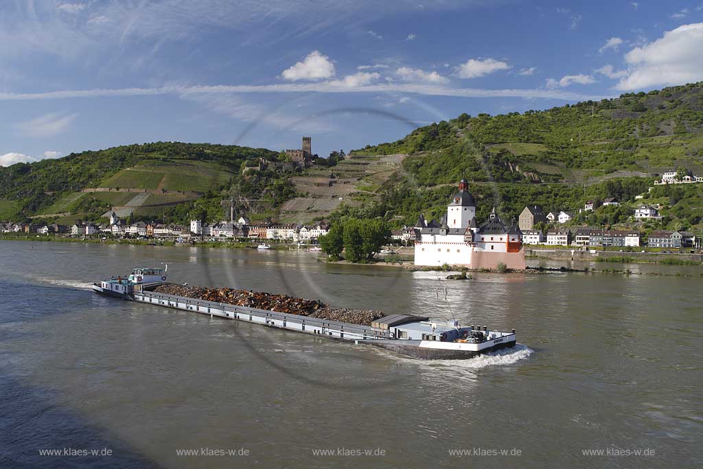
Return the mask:
[[[72, 153], [0, 167], [0, 219], [97, 221], [123, 218], [185, 223], [238, 214], [284, 223], [323, 219], [359, 207], [400, 167], [402, 156], [316, 158], [307, 169], [285, 153], [207, 143], [156, 142]], [[263, 162], [263, 164], [262, 164]]]

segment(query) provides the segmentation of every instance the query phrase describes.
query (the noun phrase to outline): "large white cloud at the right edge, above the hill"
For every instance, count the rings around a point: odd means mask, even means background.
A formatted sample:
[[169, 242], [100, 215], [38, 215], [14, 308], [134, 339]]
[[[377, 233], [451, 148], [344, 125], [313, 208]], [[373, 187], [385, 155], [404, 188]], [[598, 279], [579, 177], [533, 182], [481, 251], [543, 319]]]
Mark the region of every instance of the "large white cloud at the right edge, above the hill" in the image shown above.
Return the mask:
[[625, 54], [628, 75], [617, 89], [698, 82], [703, 79], [703, 23], [664, 32], [664, 36]]

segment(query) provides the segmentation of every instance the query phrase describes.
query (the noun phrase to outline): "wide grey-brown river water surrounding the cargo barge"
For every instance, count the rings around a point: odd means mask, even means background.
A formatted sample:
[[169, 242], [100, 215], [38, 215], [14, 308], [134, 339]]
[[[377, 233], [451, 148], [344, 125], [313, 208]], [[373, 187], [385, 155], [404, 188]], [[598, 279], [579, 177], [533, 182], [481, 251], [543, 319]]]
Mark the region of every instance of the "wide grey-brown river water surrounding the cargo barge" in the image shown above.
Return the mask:
[[[418, 361], [89, 291], [161, 262], [169, 281], [456, 317], [515, 328], [521, 345]], [[308, 252], [0, 241], [0, 467], [699, 467], [703, 278], [445, 276]]]

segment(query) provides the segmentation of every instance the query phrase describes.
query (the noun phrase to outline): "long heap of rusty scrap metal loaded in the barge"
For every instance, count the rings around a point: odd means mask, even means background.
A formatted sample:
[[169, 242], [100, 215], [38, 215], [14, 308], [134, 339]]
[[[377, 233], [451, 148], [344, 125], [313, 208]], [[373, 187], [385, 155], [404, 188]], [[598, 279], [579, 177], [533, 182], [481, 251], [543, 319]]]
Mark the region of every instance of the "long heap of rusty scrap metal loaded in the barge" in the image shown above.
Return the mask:
[[174, 295], [197, 300], [212, 301], [226, 304], [236, 304], [257, 309], [267, 309], [281, 313], [309, 316], [316, 319], [342, 321], [345, 323], [370, 326], [371, 321], [385, 316], [383, 311], [373, 309], [349, 309], [331, 307], [320, 300], [275, 295], [266, 292], [235, 290], [233, 288], [206, 288], [200, 286], [178, 285], [165, 283], [154, 289], [155, 293]]

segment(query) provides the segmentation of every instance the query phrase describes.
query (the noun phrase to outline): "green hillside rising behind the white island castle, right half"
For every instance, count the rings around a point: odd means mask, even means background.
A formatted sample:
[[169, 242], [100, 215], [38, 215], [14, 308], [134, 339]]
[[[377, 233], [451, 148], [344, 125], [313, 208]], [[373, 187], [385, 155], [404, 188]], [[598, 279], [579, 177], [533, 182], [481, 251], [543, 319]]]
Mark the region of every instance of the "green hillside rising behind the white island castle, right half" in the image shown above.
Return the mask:
[[[399, 141], [354, 150], [408, 154], [381, 203], [361, 214], [387, 217], [396, 226], [413, 224], [420, 211], [438, 217], [465, 176], [479, 200], [479, 217], [492, 205], [517, 217], [527, 204], [577, 210], [588, 198], [617, 197], [626, 203], [618, 216], [579, 221], [624, 223], [636, 203], [666, 200], [658, 227], [702, 229], [699, 184], [647, 194], [666, 170], [703, 175], [702, 131], [703, 83], [523, 114], [463, 114]], [[635, 200], [643, 193], [644, 200]]]

